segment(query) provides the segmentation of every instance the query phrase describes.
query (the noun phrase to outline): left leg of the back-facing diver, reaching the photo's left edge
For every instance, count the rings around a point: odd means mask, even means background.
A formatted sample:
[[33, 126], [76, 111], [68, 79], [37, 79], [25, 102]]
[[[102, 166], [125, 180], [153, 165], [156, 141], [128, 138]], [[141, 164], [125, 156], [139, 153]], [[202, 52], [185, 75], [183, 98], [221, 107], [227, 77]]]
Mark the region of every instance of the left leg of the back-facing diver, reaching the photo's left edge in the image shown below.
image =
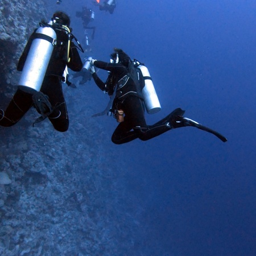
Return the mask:
[[15, 125], [32, 106], [32, 95], [17, 89], [6, 111], [0, 111], [0, 125]]

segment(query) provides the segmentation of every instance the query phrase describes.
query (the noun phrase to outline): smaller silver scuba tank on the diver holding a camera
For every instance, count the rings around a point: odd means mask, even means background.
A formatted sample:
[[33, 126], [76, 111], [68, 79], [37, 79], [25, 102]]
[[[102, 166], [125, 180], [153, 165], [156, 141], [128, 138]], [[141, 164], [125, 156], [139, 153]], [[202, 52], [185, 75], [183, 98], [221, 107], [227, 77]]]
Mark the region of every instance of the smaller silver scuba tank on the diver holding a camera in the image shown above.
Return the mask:
[[158, 96], [155, 92], [155, 87], [152, 82], [150, 73], [148, 72], [147, 67], [144, 65], [138, 65], [138, 68], [141, 69], [145, 86], [142, 89], [142, 95], [144, 98], [144, 104], [148, 114], [155, 114], [161, 110], [161, 105], [158, 100]]

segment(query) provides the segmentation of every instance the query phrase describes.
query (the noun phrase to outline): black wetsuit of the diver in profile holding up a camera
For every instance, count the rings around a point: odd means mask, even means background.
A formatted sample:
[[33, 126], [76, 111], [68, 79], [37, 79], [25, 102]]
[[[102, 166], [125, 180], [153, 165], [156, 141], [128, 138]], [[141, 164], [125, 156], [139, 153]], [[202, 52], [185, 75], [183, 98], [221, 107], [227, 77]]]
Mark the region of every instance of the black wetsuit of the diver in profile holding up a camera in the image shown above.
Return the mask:
[[[133, 141], [134, 139], [141, 139], [147, 141], [154, 138], [171, 128], [166, 126], [166, 123], [171, 121], [174, 115], [169, 115], [154, 125], [148, 126], [144, 117], [144, 103], [142, 93], [138, 91], [135, 82], [129, 77], [126, 84], [121, 84], [123, 77], [127, 76], [127, 68], [118, 63], [106, 63], [104, 61], [94, 61], [95, 67], [110, 71], [110, 75], [106, 83], [102, 82], [96, 73], [93, 73], [93, 79], [101, 90], [106, 90], [109, 95], [112, 95], [116, 90], [113, 108], [122, 109], [125, 113], [124, 121], [119, 123], [112, 135], [112, 142], [115, 144], [122, 144]], [[117, 88], [115, 88], [117, 86]], [[184, 112], [177, 112], [175, 114], [182, 115]]]

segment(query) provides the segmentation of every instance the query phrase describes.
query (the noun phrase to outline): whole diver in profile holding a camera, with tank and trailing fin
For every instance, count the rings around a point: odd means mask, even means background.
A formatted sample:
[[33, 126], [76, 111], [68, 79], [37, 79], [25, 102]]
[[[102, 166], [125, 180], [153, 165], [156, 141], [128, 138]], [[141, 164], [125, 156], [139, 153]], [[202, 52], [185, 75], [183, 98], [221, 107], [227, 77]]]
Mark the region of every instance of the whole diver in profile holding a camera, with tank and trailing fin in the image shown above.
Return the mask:
[[[110, 95], [110, 102], [106, 110], [94, 116], [105, 114], [110, 110], [117, 122], [119, 122], [112, 135], [113, 143], [127, 143], [137, 138], [147, 141], [166, 131], [184, 126], [196, 127], [216, 135], [222, 142], [227, 141], [225, 137], [216, 131], [192, 119], [183, 117], [185, 111], [180, 108], [175, 109], [154, 125], [147, 125], [144, 117], [144, 108], [146, 107], [148, 113], [156, 113], [160, 110], [160, 104], [157, 101], [158, 98], [155, 100], [154, 95], [150, 98], [150, 90], [143, 92], [146, 86], [150, 85], [147, 83], [152, 82], [147, 69], [145, 72], [146, 67], [136, 60], [131, 61], [130, 57], [122, 49], [114, 48], [114, 53], [110, 56], [112, 58], [110, 63], [94, 59], [90, 60], [90, 72], [96, 85]], [[135, 68], [134, 63], [139, 64], [138, 68]], [[98, 77], [94, 67], [109, 72], [106, 82], [103, 82]]]

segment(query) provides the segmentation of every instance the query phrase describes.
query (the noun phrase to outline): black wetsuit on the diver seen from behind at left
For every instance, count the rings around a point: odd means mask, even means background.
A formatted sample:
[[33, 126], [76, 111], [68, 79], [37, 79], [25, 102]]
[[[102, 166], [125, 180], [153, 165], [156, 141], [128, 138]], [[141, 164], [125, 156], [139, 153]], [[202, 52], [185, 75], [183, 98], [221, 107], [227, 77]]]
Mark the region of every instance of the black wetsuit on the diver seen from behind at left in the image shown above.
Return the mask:
[[[69, 126], [67, 106], [63, 96], [61, 80], [63, 72], [66, 67], [73, 71], [80, 71], [82, 69], [82, 61], [75, 47], [71, 42], [69, 47], [70, 61], [67, 62], [67, 47], [58, 47], [60, 45], [68, 46], [68, 35], [64, 30], [55, 29], [57, 35], [57, 46], [53, 48], [51, 59], [49, 60], [46, 76], [44, 77], [40, 91], [49, 97], [53, 112], [48, 116], [49, 121], [57, 131], [67, 131]], [[28, 39], [27, 45], [24, 48], [22, 56], [20, 56], [17, 70], [22, 71], [26, 61], [28, 52], [30, 50], [34, 33]], [[18, 89], [13, 96], [9, 106], [7, 107], [3, 117], [0, 113], [1, 126], [13, 126], [17, 123], [23, 115], [33, 105], [32, 94]]]

